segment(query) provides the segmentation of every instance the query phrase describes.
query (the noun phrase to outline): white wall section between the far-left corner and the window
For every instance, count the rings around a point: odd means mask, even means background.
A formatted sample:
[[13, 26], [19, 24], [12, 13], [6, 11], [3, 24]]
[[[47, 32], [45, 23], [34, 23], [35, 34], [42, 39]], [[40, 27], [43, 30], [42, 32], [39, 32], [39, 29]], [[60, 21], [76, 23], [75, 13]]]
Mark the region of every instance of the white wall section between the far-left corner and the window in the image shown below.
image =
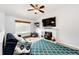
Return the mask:
[[15, 33], [15, 18], [6, 16], [5, 18], [5, 31], [6, 33]]

